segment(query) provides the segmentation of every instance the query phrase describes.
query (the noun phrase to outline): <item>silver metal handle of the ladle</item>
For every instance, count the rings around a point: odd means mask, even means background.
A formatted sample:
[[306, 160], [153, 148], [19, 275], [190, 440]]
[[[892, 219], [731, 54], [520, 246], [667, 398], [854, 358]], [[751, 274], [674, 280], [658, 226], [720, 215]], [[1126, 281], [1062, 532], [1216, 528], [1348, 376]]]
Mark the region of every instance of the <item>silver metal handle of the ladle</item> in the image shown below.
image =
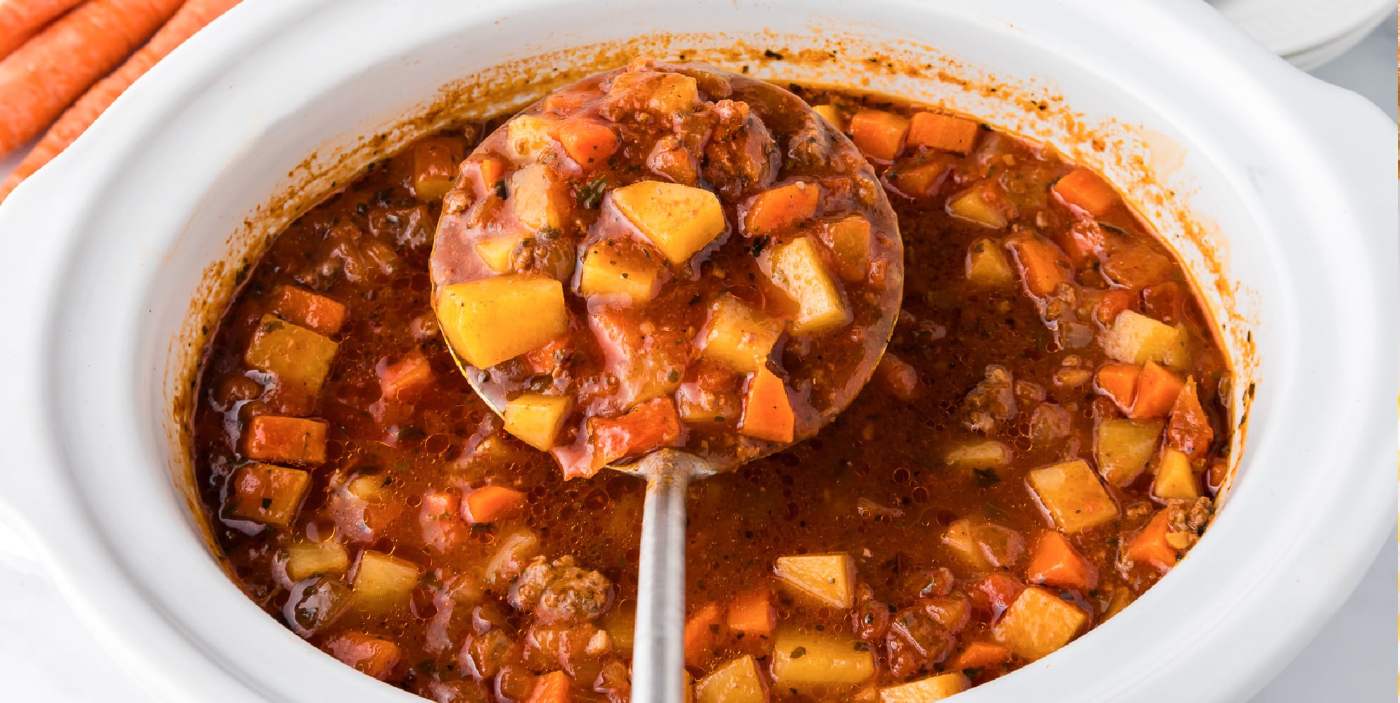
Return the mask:
[[692, 454], [654, 451], [633, 471], [647, 477], [637, 574], [637, 630], [631, 650], [631, 699], [685, 699], [686, 488], [708, 467]]

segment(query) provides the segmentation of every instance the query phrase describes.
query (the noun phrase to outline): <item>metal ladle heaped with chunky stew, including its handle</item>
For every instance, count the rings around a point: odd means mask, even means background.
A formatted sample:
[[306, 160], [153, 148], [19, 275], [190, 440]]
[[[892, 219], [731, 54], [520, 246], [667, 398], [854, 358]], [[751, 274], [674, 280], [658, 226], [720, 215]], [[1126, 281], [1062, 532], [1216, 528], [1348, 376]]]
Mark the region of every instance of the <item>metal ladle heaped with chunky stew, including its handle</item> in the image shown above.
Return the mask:
[[566, 87], [442, 187], [433, 305], [472, 387], [563, 478], [648, 482], [633, 690], [680, 700], [687, 485], [855, 398], [899, 313], [895, 214], [805, 102], [700, 64]]

